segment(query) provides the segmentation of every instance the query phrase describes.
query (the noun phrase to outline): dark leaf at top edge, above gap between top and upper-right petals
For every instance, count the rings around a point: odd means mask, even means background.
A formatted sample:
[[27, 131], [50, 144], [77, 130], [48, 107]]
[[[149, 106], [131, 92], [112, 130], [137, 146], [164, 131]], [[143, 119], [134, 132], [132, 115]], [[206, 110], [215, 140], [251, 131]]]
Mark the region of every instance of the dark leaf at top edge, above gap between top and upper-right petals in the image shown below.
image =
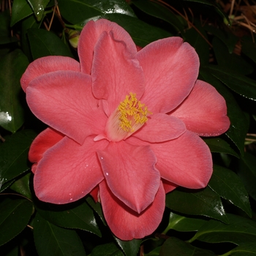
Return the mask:
[[162, 6], [158, 2], [147, 1], [147, 0], [135, 0], [132, 1], [138, 9], [146, 12], [148, 15], [154, 16], [161, 20], [165, 20], [167, 23], [170, 23], [178, 32], [183, 33], [184, 26], [176, 15], [167, 7]]

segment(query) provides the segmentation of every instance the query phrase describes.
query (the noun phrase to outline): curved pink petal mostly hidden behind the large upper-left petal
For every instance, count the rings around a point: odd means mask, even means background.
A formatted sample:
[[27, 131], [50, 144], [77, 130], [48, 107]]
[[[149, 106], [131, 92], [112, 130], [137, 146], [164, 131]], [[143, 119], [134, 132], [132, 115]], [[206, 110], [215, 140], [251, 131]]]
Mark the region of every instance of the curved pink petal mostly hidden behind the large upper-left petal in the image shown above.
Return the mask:
[[23, 91], [26, 91], [26, 88], [29, 86], [29, 82], [34, 78], [58, 70], [72, 70], [79, 72], [80, 64], [75, 59], [64, 56], [47, 56], [36, 59], [29, 64], [29, 67], [27, 67], [25, 73], [20, 79]]

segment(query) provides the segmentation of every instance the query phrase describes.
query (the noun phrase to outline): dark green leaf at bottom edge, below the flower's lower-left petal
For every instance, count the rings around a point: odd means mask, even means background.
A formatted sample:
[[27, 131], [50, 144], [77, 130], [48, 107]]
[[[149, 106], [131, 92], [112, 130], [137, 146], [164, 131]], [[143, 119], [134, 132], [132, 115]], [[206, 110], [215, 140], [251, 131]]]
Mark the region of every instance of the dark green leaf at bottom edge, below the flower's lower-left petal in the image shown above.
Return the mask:
[[75, 230], [67, 230], [50, 224], [38, 213], [34, 219], [34, 243], [39, 255], [86, 255], [83, 244]]

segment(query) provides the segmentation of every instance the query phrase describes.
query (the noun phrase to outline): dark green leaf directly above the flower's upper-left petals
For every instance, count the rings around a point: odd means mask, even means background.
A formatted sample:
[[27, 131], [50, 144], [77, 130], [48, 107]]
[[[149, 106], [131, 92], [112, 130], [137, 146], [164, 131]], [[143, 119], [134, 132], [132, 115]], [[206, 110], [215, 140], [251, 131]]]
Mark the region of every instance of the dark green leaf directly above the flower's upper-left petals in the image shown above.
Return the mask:
[[43, 29], [28, 30], [29, 43], [33, 59], [44, 56], [72, 57], [67, 45], [56, 34]]

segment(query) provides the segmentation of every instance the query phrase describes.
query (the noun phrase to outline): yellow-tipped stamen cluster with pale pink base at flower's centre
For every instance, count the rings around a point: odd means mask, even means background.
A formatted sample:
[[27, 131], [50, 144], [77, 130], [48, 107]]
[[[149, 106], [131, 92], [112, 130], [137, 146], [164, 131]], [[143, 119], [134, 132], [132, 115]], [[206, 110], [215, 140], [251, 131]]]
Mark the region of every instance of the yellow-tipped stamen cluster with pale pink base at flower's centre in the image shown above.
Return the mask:
[[149, 114], [151, 112], [145, 104], [136, 98], [136, 94], [130, 92], [108, 118], [105, 128], [108, 140], [120, 141], [128, 138], [143, 127]]

